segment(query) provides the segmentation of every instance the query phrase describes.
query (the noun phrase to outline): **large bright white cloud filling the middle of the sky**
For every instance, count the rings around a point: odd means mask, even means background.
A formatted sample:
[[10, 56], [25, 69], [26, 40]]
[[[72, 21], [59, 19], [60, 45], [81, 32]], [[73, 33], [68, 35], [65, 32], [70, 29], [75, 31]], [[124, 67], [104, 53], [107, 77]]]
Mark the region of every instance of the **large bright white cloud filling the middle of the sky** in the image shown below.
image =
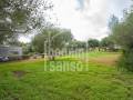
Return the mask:
[[81, 10], [78, 10], [78, 0], [53, 0], [53, 3], [60, 26], [71, 29], [76, 39], [101, 39], [106, 36], [106, 0], [84, 0], [84, 8]]

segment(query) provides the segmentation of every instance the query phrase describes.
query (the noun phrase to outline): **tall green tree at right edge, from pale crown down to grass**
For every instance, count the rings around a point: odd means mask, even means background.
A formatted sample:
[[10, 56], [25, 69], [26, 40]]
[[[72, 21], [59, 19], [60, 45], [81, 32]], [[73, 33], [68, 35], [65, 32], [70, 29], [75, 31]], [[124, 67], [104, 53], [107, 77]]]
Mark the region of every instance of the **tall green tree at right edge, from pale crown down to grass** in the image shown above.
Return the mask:
[[133, 12], [127, 12], [122, 22], [112, 29], [112, 37], [123, 49], [119, 67], [133, 71]]

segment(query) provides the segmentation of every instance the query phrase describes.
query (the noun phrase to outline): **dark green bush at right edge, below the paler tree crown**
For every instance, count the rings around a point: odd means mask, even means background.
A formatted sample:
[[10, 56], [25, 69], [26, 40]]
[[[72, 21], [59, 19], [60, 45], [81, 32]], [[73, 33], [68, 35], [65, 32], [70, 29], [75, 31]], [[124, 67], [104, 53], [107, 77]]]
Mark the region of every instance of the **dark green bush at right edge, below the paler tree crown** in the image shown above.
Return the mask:
[[133, 50], [125, 50], [119, 61], [119, 68], [133, 72]]

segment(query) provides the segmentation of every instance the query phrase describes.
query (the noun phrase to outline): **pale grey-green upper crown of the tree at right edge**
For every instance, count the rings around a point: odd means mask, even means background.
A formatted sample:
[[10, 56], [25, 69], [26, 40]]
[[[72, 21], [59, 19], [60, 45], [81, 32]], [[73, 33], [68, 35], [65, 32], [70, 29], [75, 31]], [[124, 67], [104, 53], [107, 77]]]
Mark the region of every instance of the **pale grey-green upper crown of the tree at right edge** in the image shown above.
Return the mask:
[[125, 16], [124, 21], [113, 28], [113, 39], [123, 49], [133, 49], [133, 12]]

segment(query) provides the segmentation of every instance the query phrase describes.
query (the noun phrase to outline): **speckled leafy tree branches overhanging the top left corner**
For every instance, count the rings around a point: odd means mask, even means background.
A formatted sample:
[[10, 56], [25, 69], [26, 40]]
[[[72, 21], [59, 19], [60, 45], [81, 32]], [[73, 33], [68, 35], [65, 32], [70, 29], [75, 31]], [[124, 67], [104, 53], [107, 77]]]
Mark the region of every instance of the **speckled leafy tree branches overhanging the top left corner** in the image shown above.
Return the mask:
[[0, 0], [0, 43], [44, 23], [45, 0]]

